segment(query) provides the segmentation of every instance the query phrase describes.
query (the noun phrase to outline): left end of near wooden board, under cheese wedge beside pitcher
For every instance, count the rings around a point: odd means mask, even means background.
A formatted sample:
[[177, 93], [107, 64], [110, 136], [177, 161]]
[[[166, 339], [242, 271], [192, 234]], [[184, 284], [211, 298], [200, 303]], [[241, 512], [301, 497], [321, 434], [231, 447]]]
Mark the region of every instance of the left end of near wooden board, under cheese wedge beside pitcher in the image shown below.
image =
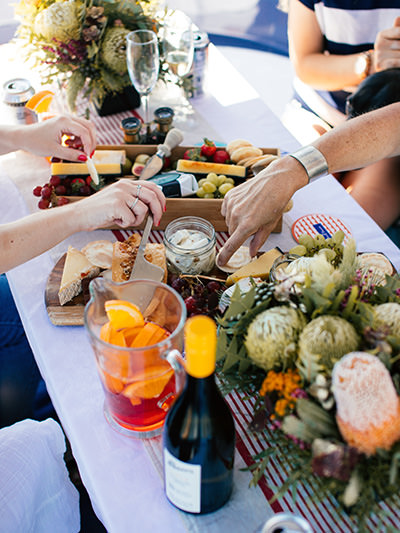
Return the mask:
[[83, 326], [83, 312], [85, 309], [83, 294], [78, 294], [65, 305], [60, 305], [58, 299], [58, 289], [60, 288], [66, 256], [67, 254], [64, 254], [57, 261], [47, 279], [44, 293], [46, 310], [50, 321], [55, 326]]

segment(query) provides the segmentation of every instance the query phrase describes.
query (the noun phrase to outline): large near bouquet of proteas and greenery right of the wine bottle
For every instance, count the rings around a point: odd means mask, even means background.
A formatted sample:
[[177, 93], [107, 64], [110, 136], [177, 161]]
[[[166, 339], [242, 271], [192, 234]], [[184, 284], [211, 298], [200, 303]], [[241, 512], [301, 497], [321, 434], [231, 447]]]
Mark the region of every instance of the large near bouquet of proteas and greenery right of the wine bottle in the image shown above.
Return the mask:
[[218, 360], [226, 390], [253, 399], [250, 431], [273, 435], [252, 484], [283, 450], [292, 469], [280, 494], [317, 483], [315, 497], [336, 496], [362, 531], [387, 512], [380, 502], [399, 504], [400, 278], [343, 237], [304, 235], [273, 281], [236, 286]]

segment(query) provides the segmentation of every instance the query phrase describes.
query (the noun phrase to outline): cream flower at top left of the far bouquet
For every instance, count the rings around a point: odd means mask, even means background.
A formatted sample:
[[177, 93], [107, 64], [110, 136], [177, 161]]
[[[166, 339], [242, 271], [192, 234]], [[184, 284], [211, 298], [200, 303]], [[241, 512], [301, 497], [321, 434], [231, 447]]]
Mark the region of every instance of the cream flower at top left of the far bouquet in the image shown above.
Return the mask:
[[38, 13], [35, 32], [47, 41], [58, 39], [64, 43], [80, 37], [79, 12], [76, 2], [56, 2]]

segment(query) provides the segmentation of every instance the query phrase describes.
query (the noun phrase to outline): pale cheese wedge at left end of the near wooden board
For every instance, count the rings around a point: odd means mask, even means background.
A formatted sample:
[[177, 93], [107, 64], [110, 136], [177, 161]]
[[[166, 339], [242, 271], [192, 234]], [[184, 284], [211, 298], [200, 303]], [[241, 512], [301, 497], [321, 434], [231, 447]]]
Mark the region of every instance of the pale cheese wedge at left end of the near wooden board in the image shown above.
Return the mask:
[[58, 290], [60, 305], [66, 304], [81, 292], [82, 279], [97, 276], [99, 272], [100, 268], [94, 266], [85, 254], [70, 246]]

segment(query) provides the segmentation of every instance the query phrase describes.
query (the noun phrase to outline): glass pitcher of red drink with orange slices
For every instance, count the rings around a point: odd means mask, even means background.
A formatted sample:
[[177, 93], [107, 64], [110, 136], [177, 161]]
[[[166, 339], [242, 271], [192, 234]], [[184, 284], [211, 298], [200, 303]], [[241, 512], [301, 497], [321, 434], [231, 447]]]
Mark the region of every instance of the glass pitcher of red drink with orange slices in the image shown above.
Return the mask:
[[[106, 419], [123, 435], [157, 436], [185, 381], [179, 364], [185, 304], [171, 287], [156, 281], [114, 283], [96, 278], [89, 290], [91, 299], [85, 308], [85, 327], [103, 385]], [[163, 328], [168, 336], [156, 344], [135, 348], [102, 340], [101, 329], [108, 321], [104, 304], [114, 299], [135, 304], [146, 323]]]

